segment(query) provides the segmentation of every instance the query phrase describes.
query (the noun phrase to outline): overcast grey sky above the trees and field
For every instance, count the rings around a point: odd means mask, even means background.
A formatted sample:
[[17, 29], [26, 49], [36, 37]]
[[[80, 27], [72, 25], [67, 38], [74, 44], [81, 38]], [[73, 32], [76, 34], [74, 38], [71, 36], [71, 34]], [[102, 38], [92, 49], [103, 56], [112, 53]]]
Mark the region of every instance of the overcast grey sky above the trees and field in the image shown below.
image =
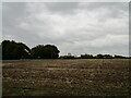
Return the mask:
[[56, 45], [60, 54], [129, 54], [129, 3], [4, 2], [2, 38], [29, 48]]

